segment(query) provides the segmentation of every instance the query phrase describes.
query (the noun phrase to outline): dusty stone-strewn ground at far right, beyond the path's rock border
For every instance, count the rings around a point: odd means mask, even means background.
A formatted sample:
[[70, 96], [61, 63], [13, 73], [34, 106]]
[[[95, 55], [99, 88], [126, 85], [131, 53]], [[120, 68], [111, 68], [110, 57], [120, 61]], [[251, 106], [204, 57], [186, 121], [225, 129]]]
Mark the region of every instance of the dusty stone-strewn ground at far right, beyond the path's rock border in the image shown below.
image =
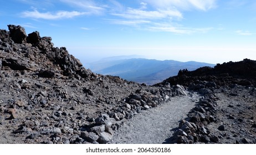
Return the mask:
[[[217, 93], [217, 122], [208, 125], [219, 143], [256, 143], [256, 95], [254, 87], [235, 85]], [[224, 126], [224, 131], [219, 130]]]

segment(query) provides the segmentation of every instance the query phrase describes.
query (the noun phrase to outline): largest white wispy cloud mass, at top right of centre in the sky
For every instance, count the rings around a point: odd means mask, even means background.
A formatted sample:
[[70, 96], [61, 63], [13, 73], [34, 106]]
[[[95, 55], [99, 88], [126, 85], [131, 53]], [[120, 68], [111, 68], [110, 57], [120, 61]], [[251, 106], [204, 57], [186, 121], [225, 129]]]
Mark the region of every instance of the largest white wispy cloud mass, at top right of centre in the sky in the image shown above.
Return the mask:
[[[181, 24], [183, 19], [182, 8], [189, 8], [193, 6], [196, 9], [206, 11], [213, 7], [214, 1], [150, 1], [145, 0], [140, 3], [139, 8], [126, 8], [122, 12], [111, 13], [112, 16], [118, 18], [110, 20], [114, 24], [122, 24], [139, 27], [140, 29], [150, 31], [170, 32], [175, 34], [192, 34], [192, 33], [206, 33], [213, 28], [187, 28]], [[151, 6], [149, 6], [149, 4]], [[156, 4], [154, 6], [154, 4]], [[169, 4], [176, 4], [179, 7], [166, 7]], [[152, 7], [153, 6], [153, 7]]]

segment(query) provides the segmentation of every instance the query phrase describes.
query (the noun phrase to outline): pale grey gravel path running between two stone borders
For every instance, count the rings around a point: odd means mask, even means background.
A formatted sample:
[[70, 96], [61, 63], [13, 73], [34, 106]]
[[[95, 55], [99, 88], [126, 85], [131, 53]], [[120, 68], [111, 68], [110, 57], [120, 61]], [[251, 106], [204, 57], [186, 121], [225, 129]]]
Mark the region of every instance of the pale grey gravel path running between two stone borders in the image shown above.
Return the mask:
[[197, 94], [189, 93], [188, 96], [172, 97], [170, 102], [143, 111], [125, 122], [110, 143], [163, 143], [172, 136], [171, 130], [178, 127], [178, 121], [187, 116], [198, 100]]

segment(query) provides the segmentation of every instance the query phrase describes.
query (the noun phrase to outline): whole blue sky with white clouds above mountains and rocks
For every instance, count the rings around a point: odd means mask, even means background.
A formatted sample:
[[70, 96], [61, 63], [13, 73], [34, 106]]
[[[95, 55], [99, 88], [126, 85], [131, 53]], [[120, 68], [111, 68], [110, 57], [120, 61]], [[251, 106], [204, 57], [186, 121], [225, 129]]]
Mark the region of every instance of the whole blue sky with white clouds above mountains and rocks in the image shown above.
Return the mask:
[[223, 63], [256, 60], [254, 0], [9, 0], [7, 24], [37, 30], [86, 63], [108, 56]]

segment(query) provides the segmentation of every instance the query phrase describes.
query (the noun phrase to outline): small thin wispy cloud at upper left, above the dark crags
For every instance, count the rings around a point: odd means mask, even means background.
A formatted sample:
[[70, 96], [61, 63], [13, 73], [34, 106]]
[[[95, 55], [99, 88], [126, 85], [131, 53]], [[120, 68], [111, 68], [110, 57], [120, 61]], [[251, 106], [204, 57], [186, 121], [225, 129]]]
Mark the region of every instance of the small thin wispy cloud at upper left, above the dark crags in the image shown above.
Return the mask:
[[22, 12], [21, 17], [54, 20], [54, 19], [73, 18], [73, 17], [77, 17], [77, 16], [82, 16], [84, 14], [88, 14], [88, 13], [77, 12], [77, 11], [39, 12], [39, 11], [37, 11], [37, 9], [34, 9], [33, 11]]

